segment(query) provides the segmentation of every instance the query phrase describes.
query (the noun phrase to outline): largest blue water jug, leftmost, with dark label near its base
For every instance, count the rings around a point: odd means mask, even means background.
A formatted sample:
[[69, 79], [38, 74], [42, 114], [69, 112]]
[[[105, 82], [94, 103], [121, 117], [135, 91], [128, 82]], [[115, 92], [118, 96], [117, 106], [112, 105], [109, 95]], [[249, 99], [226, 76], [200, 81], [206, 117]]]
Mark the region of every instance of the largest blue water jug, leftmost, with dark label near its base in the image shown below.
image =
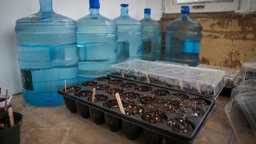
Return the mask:
[[52, 0], [40, 0], [40, 11], [16, 21], [23, 99], [34, 106], [62, 104], [57, 92], [78, 83], [76, 23], [54, 13]]

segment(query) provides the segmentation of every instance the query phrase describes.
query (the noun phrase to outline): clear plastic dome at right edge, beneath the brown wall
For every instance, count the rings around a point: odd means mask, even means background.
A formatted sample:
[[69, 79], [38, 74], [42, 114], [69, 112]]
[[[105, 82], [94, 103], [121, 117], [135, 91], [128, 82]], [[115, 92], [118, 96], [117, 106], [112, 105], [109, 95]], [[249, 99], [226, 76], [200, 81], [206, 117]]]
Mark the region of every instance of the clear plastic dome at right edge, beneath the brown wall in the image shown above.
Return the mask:
[[256, 80], [256, 62], [244, 62], [241, 66], [238, 83], [245, 81], [246, 79]]

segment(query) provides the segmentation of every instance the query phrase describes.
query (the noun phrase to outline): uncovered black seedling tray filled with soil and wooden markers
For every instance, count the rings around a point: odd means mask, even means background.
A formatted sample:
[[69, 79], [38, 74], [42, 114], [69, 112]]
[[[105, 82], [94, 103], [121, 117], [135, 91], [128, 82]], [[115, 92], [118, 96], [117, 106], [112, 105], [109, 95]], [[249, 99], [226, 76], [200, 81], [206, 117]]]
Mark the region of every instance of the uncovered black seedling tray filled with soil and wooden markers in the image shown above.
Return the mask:
[[[164, 89], [159, 86], [138, 83], [127, 79], [114, 77], [104, 78], [107, 81], [97, 81], [102, 79], [102, 77], [96, 78], [87, 81], [86, 84], [83, 83], [83, 86], [81, 84], [69, 86], [67, 87], [68, 92], [59, 90], [58, 93], [64, 96], [66, 106], [71, 112], [74, 113], [75, 109], [77, 109], [78, 113], [84, 118], [88, 117], [90, 113], [90, 117], [96, 124], [101, 124], [106, 121], [109, 129], [113, 132], [118, 131], [121, 128], [122, 123], [124, 133], [130, 140], [136, 139], [137, 135], [140, 133], [140, 129], [142, 128], [144, 137], [148, 141], [146, 141], [147, 143], [151, 143], [153, 141], [158, 143], [162, 140], [162, 136], [166, 137], [167, 142], [192, 143], [215, 106], [214, 100], [198, 97], [198, 95]], [[108, 82], [115, 84], [109, 84]], [[122, 84], [118, 84], [121, 82], [133, 83], [137, 86], [124, 88], [121, 87]], [[134, 86], [133, 84], [130, 86]], [[101, 97], [101, 100], [105, 102], [93, 103], [89, 101], [91, 100], [92, 89], [93, 87], [97, 88], [99, 85], [105, 85], [103, 88], [107, 90], [96, 90], [95, 100], [97, 97]], [[146, 89], [139, 89], [140, 86], [145, 86]], [[72, 87], [78, 87], [78, 89], [73, 89]], [[149, 89], [149, 87], [151, 87], [151, 89]], [[117, 104], [114, 105], [114, 108], [105, 107], [109, 106], [109, 102], [116, 102], [115, 91], [111, 91], [113, 89], [119, 91], [124, 107], [142, 107], [142, 110], [137, 111], [137, 116], [121, 114]], [[155, 93], [159, 89], [160, 92]], [[135, 93], [135, 98], [123, 99], [123, 94], [129, 92]], [[81, 94], [84, 97], [81, 97]], [[78, 97], [76, 95], [78, 95]], [[103, 97], [106, 97], [107, 99], [103, 100]], [[153, 102], [145, 101], [145, 99], [153, 100]], [[150, 104], [145, 104], [145, 102], [149, 102]], [[77, 106], [77, 103], [79, 106]], [[125, 111], [125, 113], [126, 112], [128, 111]], [[147, 116], [142, 116], [143, 114], [158, 114], [163, 116], [163, 119], [162, 121], [158, 121], [154, 116], [150, 121], [158, 123], [150, 123], [142, 119], [142, 117], [147, 119]], [[150, 115], [148, 116], [150, 117]], [[181, 127], [185, 125], [181, 124], [180, 126], [177, 126], [177, 123], [173, 123], [173, 121], [187, 125], [188, 129], [181, 129]], [[170, 125], [173, 125], [173, 129]], [[153, 137], [152, 135], [155, 136]]]

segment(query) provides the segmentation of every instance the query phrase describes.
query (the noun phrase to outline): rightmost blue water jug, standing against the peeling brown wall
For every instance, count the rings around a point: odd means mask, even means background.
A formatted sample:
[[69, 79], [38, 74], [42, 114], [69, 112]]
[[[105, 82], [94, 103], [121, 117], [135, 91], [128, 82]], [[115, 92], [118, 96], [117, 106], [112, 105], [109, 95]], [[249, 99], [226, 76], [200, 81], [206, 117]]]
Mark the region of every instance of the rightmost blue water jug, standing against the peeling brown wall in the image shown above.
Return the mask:
[[166, 26], [165, 61], [197, 66], [202, 38], [200, 23], [188, 17], [189, 6], [181, 6], [181, 17]]

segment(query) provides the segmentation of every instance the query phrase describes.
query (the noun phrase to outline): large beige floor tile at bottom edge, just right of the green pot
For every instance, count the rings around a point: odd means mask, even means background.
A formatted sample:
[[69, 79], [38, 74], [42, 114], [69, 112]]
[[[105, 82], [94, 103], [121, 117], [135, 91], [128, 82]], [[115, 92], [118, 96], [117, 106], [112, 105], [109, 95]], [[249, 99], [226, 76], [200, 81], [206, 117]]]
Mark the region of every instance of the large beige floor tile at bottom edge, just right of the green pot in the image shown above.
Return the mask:
[[71, 127], [30, 128], [21, 143], [67, 143]]

